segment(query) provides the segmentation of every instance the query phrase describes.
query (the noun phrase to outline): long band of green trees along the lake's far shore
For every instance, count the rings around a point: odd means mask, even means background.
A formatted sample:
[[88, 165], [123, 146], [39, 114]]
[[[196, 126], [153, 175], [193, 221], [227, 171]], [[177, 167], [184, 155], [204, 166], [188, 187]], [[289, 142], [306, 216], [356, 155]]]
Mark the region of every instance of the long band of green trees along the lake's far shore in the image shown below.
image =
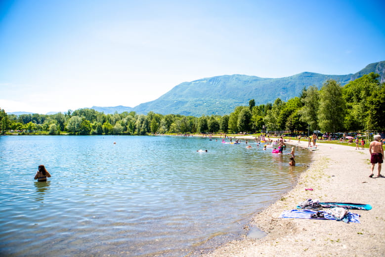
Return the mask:
[[308, 86], [287, 102], [277, 98], [273, 103], [237, 106], [223, 116], [183, 116], [177, 114], [147, 115], [135, 112], [104, 114], [93, 109], [68, 110], [53, 115], [7, 115], [0, 109], [0, 129], [24, 132], [45, 131], [49, 134], [135, 134], [148, 133], [215, 133], [257, 131], [327, 132], [385, 129], [385, 83], [370, 73], [345, 86], [327, 80], [322, 87]]

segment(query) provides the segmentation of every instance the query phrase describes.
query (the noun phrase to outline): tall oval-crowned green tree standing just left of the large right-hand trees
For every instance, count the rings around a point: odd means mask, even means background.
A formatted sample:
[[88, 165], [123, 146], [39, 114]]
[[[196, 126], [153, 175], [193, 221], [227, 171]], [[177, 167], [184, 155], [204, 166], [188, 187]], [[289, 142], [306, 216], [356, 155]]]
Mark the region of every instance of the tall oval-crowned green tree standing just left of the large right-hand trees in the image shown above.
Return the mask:
[[320, 90], [317, 116], [320, 128], [330, 132], [343, 129], [345, 106], [340, 84], [335, 80], [327, 80]]

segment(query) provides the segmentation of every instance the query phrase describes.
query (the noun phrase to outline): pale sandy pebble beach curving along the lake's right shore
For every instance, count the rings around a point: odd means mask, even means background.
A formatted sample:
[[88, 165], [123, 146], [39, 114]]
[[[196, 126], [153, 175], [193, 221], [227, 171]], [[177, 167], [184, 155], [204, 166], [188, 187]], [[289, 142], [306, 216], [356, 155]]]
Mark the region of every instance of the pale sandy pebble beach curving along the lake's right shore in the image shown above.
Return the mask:
[[[297, 145], [297, 141], [291, 144]], [[299, 146], [306, 147], [307, 141], [303, 140]], [[286, 153], [289, 152], [286, 150]], [[297, 185], [276, 203], [253, 216], [251, 225], [266, 232], [265, 237], [252, 239], [245, 236], [242, 240], [228, 242], [202, 256], [385, 256], [385, 178], [377, 177], [377, 165], [375, 176], [369, 177], [369, 150], [317, 143], [313, 155], [313, 162], [301, 174]], [[384, 167], [382, 174], [385, 175]], [[309, 187], [313, 191], [305, 190]], [[350, 210], [361, 215], [361, 223], [278, 218], [283, 211], [296, 209], [300, 202], [308, 198], [320, 202], [370, 204], [373, 209]]]

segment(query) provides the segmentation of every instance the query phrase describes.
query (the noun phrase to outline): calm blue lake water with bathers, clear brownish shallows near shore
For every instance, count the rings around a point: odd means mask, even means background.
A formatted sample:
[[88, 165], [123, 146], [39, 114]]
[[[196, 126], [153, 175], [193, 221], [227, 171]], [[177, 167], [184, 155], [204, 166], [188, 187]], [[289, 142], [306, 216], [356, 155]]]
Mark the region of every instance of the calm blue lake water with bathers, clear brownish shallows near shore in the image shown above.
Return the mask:
[[[0, 253], [182, 257], [237, 238], [310, 161], [297, 149], [298, 166], [289, 167], [289, 155], [252, 146], [176, 136], [0, 136]], [[52, 177], [34, 182], [41, 164]]]

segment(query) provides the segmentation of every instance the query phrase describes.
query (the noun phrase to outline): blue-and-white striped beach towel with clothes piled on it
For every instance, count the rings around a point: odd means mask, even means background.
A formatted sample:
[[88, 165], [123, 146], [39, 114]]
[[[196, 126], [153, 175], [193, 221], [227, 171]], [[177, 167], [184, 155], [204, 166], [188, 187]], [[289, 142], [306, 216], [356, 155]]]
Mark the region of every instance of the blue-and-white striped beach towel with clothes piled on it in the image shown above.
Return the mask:
[[[337, 209], [337, 208], [332, 208]], [[353, 222], [353, 223], [361, 223], [359, 220], [359, 214], [353, 214], [344, 210], [343, 208], [339, 208], [342, 210], [333, 210], [333, 212], [320, 212], [313, 211], [309, 209], [304, 210], [291, 210], [284, 211], [279, 218], [311, 218], [311, 219], [330, 219], [330, 220], [342, 220], [345, 223]], [[346, 212], [344, 212], [346, 211]], [[343, 214], [343, 216], [341, 215]], [[314, 216], [314, 217], [312, 217]]]

